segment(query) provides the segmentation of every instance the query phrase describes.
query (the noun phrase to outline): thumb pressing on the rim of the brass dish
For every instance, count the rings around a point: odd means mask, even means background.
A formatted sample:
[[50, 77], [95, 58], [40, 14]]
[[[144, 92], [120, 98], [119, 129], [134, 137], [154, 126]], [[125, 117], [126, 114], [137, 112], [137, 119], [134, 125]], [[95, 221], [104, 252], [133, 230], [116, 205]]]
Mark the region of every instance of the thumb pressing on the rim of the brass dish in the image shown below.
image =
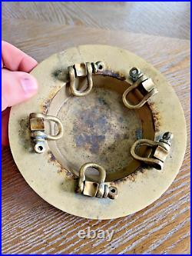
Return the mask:
[[37, 91], [38, 84], [32, 75], [2, 68], [2, 110], [31, 98]]

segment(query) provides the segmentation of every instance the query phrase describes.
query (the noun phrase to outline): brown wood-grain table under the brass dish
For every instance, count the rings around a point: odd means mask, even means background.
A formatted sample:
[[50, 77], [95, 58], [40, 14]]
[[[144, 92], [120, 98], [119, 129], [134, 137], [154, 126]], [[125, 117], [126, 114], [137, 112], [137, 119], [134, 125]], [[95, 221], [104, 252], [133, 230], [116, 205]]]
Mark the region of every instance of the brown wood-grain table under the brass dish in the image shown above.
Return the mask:
[[[184, 163], [170, 188], [144, 210], [110, 221], [74, 217], [43, 201], [20, 175], [10, 149], [3, 148], [4, 254], [189, 253], [189, 8], [187, 2], [3, 3], [2, 38], [38, 62], [55, 52], [82, 44], [116, 45], [151, 62], [177, 92], [188, 134]], [[114, 229], [112, 241], [78, 238], [78, 231], [88, 227]]]

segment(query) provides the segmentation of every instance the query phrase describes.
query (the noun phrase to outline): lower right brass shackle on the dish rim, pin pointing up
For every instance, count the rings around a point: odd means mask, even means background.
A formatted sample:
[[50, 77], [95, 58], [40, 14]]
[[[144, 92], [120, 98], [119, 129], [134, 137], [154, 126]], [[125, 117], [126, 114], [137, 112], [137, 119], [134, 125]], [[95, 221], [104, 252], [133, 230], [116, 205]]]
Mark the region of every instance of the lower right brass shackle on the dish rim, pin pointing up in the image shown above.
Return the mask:
[[[137, 140], [131, 147], [131, 155], [138, 161], [142, 161], [147, 165], [152, 165], [154, 168], [157, 168], [157, 170], [162, 170], [164, 161], [170, 151], [170, 141], [173, 137], [174, 135], [167, 131], [164, 133], [163, 138], [157, 142], [147, 139]], [[147, 155], [147, 157], [137, 155], [137, 149], [144, 145], [147, 145], [147, 147], [152, 149], [151, 153]]]

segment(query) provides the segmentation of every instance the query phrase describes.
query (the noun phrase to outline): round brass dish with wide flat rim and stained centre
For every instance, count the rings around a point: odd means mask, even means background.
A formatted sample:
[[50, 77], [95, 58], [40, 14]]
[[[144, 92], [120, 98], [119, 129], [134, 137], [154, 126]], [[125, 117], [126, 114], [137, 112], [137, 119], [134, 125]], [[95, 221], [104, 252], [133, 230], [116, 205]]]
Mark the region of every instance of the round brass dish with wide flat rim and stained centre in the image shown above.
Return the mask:
[[[93, 75], [88, 94], [72, 95], [68, 67], [98, 60], [108, 64], [107, 71]], [[129, 109], [122, 95], [131, 86], [128, 71], [134, 66], [153, 79], [158, 93], [141, 108]], [[186, 127], [177, 95], [156, 69], [120, 48], [81, 45], [52, 55], [31, 73], [38, 80], [38, 95], [12, 108], [9, 139], [19, 171], [41, 198], [74, 215], [109, 219], [139, 211], [166, 191], [184, 158]], [[85, 81], [79, 78], [79, 85], [83, 87]], [[127, 100], [137, 105], [140, 92], [130, 91]], [[43, 154], [33, 150], [28, 128], [31, 112], [55, 116], [63, 126], [64, 135], [47, 141]], [[53, 123], [45, 123], [45, 130], [57, 134]], [[157, 141], [164, 131], [173, 133], [174, 139], [161, 171], [131, 157], [134, 141]], [[142, 147], [140, 155], [147, 150]], [[79, 170], [88, 162], [104, 167], [105, 181], [118, 189], [118, 198], [90, 198], [74, 192]], [[94, 179], [98, 174], [92, 170], [86, 176]]]

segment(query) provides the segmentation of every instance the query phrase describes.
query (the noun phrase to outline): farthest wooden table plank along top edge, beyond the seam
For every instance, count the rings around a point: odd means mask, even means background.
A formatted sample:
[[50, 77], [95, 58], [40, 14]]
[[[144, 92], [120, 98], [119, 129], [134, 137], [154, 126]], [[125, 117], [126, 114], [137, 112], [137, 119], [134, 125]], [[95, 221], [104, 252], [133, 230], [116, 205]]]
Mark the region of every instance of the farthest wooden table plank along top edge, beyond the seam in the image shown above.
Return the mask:
[[2, 16], [190, 39], [190, 2], [6, 2]]

